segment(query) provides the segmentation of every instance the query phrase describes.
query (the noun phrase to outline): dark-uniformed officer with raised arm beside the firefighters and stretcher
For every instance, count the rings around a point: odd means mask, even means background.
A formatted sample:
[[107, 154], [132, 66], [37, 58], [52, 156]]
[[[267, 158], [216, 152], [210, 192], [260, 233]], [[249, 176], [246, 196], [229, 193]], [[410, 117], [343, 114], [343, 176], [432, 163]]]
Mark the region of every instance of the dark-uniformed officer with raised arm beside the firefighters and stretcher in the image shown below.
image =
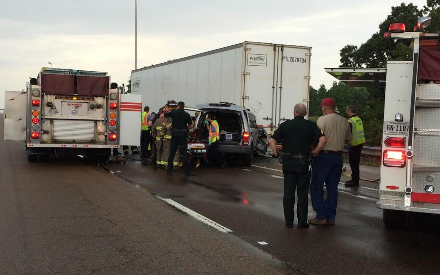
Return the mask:
[[[169, 101], [169, 105], [176, 104], [176, 101]], [[161, 114], [161, 119], [165, 123], [167, 129], [172, 129], [171, 134], [171, 145], [169, 148], [169, 157], [168, 157], [168, 171], [167, 175], [171, 176], [172, 174], [172, 162], [174, 156], [176, 155], [177, 148], [180, 147], [180, 151], [182, 152], [182, 163], [183, 163], [183, 173], [184, 176], [192, 176], [195, 175], [191, 173], [189, 170], [190, 161], [188, 159], [188, 141], [187, 134], [188, 130], [193, 127], [192, 119], [190, 114], [183, 110], [185, 108], [185, 103], [182, 101], [177, 103], [177, 108], [172, 110], [171, 112]], [[169, 125], [165, 118], [171, 117], [172, 125]]]

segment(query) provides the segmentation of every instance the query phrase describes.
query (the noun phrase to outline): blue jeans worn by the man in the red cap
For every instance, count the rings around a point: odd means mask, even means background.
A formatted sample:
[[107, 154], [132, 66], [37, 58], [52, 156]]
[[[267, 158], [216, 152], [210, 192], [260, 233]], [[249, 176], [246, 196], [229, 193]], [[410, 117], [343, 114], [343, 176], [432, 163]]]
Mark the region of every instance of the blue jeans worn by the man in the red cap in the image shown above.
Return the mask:
[[[320, 220], [334, 220], [337, 206], [337, 185], [341, 180], [344, 160], [340, 154], [319, 154], [312, 169], [310, 182], [310, 198], [316, 218]], [[326, 183], [327, 197], [324, 200], [324, 182]]]

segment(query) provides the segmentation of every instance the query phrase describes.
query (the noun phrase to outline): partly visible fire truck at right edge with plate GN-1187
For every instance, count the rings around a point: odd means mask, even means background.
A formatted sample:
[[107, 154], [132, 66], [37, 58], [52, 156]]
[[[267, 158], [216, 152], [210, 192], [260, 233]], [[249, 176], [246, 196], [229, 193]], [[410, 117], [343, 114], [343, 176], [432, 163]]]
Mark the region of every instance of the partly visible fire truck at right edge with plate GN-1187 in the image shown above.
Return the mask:
[[394, 23], [384, 34], [411, 40], [412, 61], [388, 61], [386, 68], [326, 68], [349, 86], [374, 83], [381, 92], [385, 87], [377, 207], [387, 228], [440, 213], [440, 34], [423, 31], [430, 22], [419, 18], [413, 32]]

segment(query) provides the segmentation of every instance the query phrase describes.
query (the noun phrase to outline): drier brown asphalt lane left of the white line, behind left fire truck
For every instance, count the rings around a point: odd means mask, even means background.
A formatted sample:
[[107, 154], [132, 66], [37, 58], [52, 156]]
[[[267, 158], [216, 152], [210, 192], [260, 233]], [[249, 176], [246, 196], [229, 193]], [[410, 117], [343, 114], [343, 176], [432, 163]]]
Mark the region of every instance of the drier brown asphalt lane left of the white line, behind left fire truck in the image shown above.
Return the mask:
[[0, 138], [1, 275], [295, 274], [84, 159], [27, 163]]

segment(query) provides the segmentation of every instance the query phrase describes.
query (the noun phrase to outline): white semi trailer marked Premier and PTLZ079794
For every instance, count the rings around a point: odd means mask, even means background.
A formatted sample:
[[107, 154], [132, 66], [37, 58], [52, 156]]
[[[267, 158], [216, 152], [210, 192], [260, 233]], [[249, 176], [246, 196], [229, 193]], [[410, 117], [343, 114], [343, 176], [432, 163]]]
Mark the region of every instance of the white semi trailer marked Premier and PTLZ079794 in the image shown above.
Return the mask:
[[134, 70], [132, 94], [142, 94], [151, 110], [168, 100], [241, 105], [271, 132], [293, 117], [293, 105], [308, 105], [311, 50], [243, 42]]

